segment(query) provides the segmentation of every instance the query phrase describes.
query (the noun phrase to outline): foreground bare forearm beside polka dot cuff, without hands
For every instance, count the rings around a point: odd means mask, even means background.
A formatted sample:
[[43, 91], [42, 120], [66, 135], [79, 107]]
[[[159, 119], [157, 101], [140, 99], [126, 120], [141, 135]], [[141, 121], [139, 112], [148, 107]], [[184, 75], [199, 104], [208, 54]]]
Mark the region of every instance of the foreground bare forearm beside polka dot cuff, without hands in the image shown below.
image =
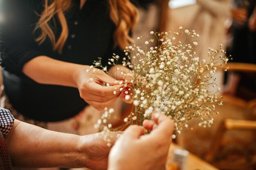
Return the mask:
[[5, 137], [13, 166], [24, 168], [85, 167], [78, 135], [39, 128], [15, 120]]

